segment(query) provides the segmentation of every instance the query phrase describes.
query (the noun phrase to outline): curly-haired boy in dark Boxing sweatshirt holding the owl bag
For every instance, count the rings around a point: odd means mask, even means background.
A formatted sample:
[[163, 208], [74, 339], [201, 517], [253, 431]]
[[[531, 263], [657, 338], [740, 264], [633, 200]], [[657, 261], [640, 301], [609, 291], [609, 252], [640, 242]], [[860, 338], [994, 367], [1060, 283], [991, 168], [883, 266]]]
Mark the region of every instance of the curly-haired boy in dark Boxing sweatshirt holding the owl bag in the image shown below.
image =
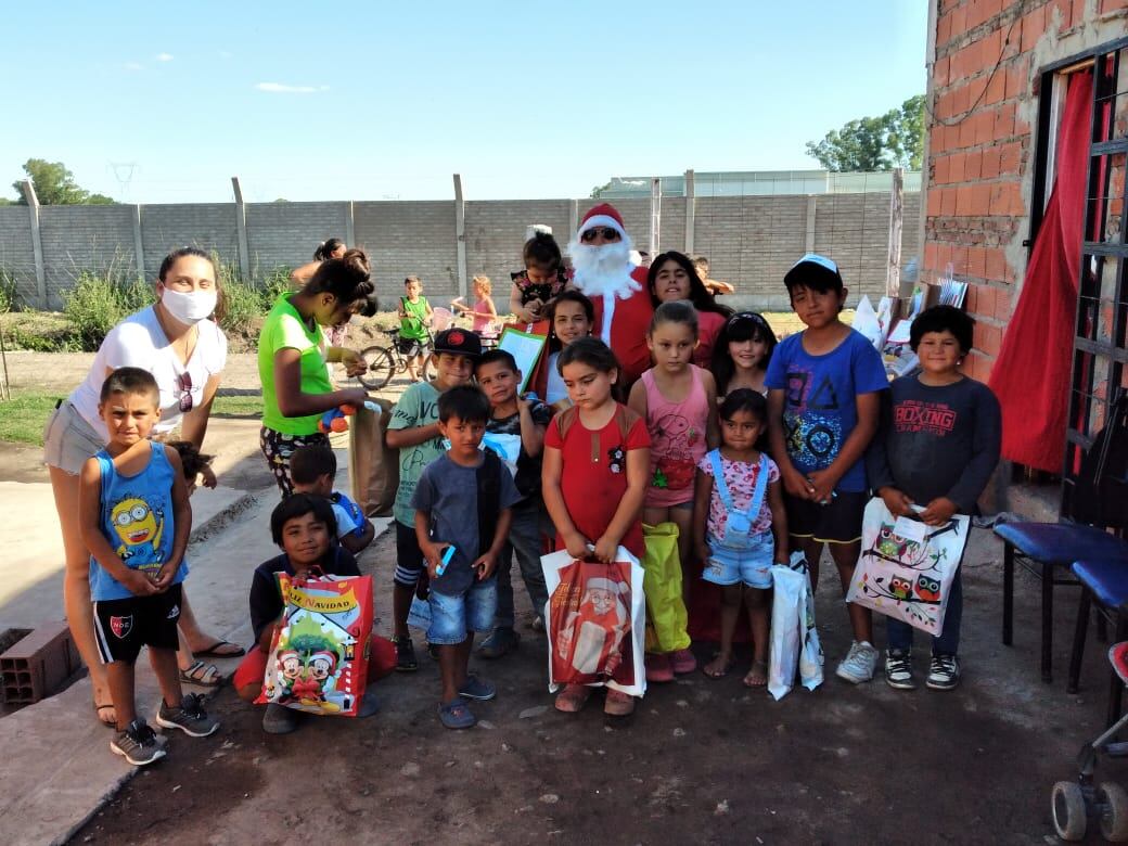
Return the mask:
[[[976, 501], [998, 464], [998, 399], [986, 385], [959, 371], [971, 350], [973, 325], [952, 306], [934, 306], [913, 321], [909, 346], [920, 359], [920, 371], [889, 386], [881, 429], [866, 456], [870, 484], [893, 517], [915, 515], [928, 526], [943, 526], [952, 514], [977, 513]], [[943, 631], [932, 638], [925, 684], [934, 690], [959, 684], [962, 615], [958, 569]], [[885, 681], [898, 690], [914, 689], [913, 627], [889, 617], [885, 640]]]

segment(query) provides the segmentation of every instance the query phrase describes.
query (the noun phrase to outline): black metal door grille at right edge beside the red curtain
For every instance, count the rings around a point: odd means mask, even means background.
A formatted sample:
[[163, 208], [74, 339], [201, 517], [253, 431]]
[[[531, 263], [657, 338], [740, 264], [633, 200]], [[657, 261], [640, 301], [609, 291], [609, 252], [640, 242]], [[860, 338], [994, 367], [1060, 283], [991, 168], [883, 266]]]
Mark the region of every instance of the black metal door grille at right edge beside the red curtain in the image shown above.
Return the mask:
[[1085, 223], [1078, 268], [1073, 384], [1061, 473], [1061, 512], [1073, 513], [1081, 460], [1128, 388], [1128, 47], [1094, 51]]

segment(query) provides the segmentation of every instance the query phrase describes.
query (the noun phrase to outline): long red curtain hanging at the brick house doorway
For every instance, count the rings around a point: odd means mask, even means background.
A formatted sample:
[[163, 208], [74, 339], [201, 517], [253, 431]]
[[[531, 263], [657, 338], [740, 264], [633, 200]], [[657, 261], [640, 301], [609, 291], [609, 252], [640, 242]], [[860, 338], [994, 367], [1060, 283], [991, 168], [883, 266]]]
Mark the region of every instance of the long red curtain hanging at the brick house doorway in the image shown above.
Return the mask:
[[1003, 457], [1049, 473], [1064, 456], [1092, 107], [1092, 71], [1074, 73], [1054, 190], [989, 382], [1003, 407]]

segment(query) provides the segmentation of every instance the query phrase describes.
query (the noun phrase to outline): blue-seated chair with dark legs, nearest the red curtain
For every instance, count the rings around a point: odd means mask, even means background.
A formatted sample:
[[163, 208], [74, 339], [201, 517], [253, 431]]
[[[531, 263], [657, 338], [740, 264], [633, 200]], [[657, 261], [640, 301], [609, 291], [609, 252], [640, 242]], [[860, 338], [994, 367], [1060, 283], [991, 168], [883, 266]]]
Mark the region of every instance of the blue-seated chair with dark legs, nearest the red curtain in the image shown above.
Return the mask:
[[[1094, 444], [1094, 460], [1082, 464], [1070, 497], [1072, 512], [1066, 521], [1057, 523], [1016, 522], [1001, 523], [995, 527], [995, 534], [1003, 539], [1003, 643], [1007, 646], [1013, 641], [1014, 633], [1014, 564], [1019, 562], [1041, 580], [1042, 585], [1042, 681], [1052, 681], [1051, 654], [1054, 646], [1054, 588], [1055, 585], [1076, 585], [1074, 579], [1058, 579], [1058, 567], [1065, 569], [1073, 562], [1103, 562], [1110, 566], [1122, 563], [1128, 565], [1128, 541], [1109, 534], [1109, 527], [1123, 529], [1128, 514], [1126, 509], [1109, 508], [1110, 501], [1107, 483], [1117, 486], [1117, 496], [1123, 481], [1119, 478], [1122, 468], [1114, 468], [1114, 478], [1105, 478], [1110, 456], [1121, 456], [1126, 421], [1128, 421], [1128, 394], [1121, 393], [1112, 404], [1109, 424], [1102, 432], [1100, 447]], [[1117, 459], [1119, 460], [1119, 459]], [[1119, 502], [1119, 500], [1116, 500]], [[1089, 522], [1100, 521], [1100, 526], [1083, 522], [1070, 522], [1074, 517], [1082, 515]], [[1087, 615], [1086, 615], [1087, 623]], [[1123, 638], [1121, 638], [1123, 640]], [[1076, 641], [1076, 638], [1075, 638]]]

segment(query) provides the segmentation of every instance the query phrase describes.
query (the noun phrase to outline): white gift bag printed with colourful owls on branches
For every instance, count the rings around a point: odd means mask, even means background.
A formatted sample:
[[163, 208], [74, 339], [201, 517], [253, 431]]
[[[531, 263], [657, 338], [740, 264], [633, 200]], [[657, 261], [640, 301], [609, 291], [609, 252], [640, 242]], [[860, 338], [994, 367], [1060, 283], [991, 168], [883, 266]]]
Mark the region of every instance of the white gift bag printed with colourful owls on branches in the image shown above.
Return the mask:
[[964, 514], [954, 514], [944, 526], [893, 517], [881, 497], [874, 497], [865, 506], [862, 555], [846, 601], [938, 636], [970, 528]]

